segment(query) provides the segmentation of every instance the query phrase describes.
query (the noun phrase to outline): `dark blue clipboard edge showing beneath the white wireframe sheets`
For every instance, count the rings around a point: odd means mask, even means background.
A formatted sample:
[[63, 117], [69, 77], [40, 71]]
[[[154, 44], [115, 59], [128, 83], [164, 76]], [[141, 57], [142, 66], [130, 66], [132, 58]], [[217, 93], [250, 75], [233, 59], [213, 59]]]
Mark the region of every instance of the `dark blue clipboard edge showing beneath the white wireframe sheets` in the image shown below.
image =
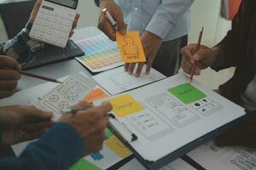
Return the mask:
[[182, 148], [175, 150], [174, 152], [170, 153], [168, 156], [165, 156], [161, 158], [158, 161], [146, 161], [143, 159], [142, 156], [140, 156], [136, 150], [127, 142], [122, 135], [113, 127], [113, 125], [109, 122], [108, 128], [116, 135], [119, 140], [121, 140], [129, 150], [133, 153], [133, 155], [137, 158], [138, 161], [140, 161], [144, 167], [146, 167], [148, 170], [158, 170], [161, 167], [165, 167], [170, 162], [176, 160], [177, 158], [187, 154], [189, 151], [194, 150], [196, 147], [200, 146], [201, 144], [205, 144], [211, 139], [214, 139], [218, 137], [218, 135], [225, 133], [229, 131], [232, 127], [236, 127], [241, 122], [246, 121], [250, 117], [250, 113], [246, 111], [245, 116], [241, 116], [240, 118], [236, 119], [233, 122], [229, 122], [225, 124], [222, 127], [218, 127], [218, 129], [212, 131], [211, 133], [207, 133], [206, 135], [202, 136], [201, 138], [195, 139], [193, 142], [190, 142], [189, 144], [184, 145]]

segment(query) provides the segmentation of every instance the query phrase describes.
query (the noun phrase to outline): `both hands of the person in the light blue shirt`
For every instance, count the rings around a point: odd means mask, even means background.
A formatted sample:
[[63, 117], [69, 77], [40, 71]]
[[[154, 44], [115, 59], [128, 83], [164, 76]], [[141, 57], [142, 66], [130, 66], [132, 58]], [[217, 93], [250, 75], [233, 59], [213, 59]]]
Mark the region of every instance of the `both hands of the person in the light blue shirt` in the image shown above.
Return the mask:
[[[122, 35], [125, 35], [127, 25], [125, 24], [121, 8], [119, 8], [119, 6], [112, 0], [100, 0], [100, 8], [108, 9], [108, 12], [112, 15], [113, 20], [116, 20], [117, 27], [114, 28], [108, 18], [105, 16], [105, 14], [101, 14], [99, 18], [98, 28], [102, 30], [109, 37], [109, 39], [113, 41], [115, 41], [116, 39], [116, 31], [119, 31]], [[144, 53], [147, 59], [146, 74], [149, 74], [151, 66], [154, 62], [155, 55], [160, 48], [162, 39], [160, 37], [157, 37], [150, 31], [144, 31], [141, 39], [143, 42]], [[136, 65], [137, 71], [135, 72], [135, 76], [139, 77], [142, 73], [144, 63], [125, 64], [125, 71], [132, 75]]]

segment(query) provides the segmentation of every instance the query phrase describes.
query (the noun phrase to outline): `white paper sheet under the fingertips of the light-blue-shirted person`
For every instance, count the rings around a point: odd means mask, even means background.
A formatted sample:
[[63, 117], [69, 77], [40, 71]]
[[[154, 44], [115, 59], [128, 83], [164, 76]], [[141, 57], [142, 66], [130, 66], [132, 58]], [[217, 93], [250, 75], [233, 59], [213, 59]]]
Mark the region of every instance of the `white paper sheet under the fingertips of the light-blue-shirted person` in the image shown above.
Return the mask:
[[140, 77], [134, 77], [134, 75], [129, 75], [125, 72], [124, 67], [118, 67], [110, 71], [102, 72], [92, 78], [112, 95], [166, 78], [153, 68], [149, 75], [146, 75], [145, 70], [146, 66], [144, 65], [142, 75]]

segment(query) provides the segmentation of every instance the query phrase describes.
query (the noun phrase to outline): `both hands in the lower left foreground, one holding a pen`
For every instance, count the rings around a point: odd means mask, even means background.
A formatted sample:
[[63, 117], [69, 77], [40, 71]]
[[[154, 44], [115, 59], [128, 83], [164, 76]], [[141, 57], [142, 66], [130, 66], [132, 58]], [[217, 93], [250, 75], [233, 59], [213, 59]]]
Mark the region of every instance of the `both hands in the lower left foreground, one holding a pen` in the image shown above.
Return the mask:
[[[81, 102], [73, 108], [81, 108], [88, 103]], [[108, 123], [108, 112], [112, 105], [104, 103], [76, 115], [63, 114], [59, 122], [67, 122], [81, 135], [86, 153], [84, 156], [102, 150], [105, 139], [105, 128]], [[3, 144], [16, 144], [37, 139], [54, 125], [50, 119], [53, 113], [40, 111], [34, 106], [12, 105], [0, 108], [0, 125]]]

